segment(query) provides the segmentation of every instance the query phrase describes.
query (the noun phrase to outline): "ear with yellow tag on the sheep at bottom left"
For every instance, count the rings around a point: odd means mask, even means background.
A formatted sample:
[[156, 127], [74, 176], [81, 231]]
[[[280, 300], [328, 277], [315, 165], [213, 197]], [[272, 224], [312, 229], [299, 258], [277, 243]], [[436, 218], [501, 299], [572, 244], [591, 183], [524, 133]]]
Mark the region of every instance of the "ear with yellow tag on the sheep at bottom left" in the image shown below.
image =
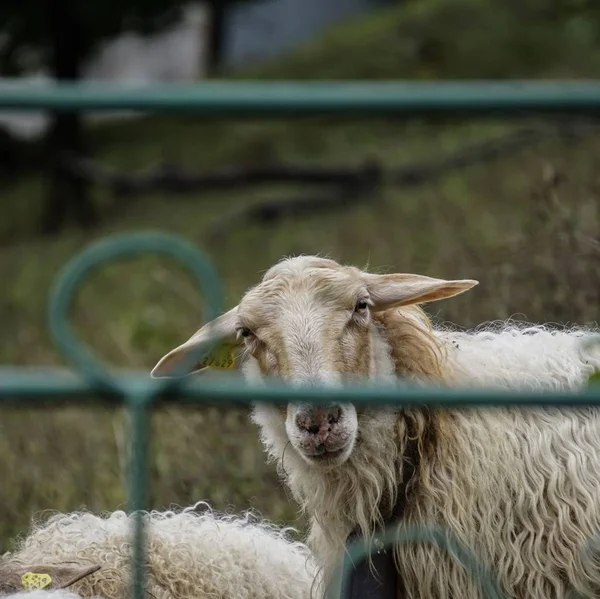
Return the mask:
[[64, 589], [93, 574], [100, 566], [0, 563], [0, 589]]

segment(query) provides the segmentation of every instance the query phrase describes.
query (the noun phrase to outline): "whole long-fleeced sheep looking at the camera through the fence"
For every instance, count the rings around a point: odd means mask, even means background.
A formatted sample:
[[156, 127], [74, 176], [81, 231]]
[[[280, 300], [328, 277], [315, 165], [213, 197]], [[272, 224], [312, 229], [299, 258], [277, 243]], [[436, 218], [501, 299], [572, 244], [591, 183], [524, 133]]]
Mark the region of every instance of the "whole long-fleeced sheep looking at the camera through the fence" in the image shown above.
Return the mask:
[[[238, 344], [249, 381], [399, 376], [575, 390], [600, 368], [599, 353], [586, 345], [595, 329], [507, 322], [460, 332], [433, 327], [419, 307], [476, 284], [372, 274], [312, 256], [286, 259], [238, 306], [166, 354], [152, 376], [179, 376], [176, 368], [209, 336], [223, 347]], [[308, 543], [326, 580], [348, 534], [358, 527], [368, 539], [400, 500], [404, 522], [454, 533], [506, 596], [558, 598], [571, 588], [600, 596], [600, 560], [580, 553], [600, 531], [600, 409], [257, 404], [253, 419], [310, 516]], [[409, 457], [416, 465], [410, 476]], [[406, 597], [481, 596], [435, 546], [399, 544], [395, 551]]]

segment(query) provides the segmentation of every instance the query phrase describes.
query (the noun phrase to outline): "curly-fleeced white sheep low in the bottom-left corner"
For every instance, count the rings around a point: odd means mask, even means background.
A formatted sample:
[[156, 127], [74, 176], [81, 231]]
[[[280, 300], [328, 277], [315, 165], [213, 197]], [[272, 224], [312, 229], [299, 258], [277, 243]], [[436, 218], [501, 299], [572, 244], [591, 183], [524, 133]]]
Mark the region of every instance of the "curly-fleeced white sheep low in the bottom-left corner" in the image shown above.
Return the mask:
[[[203, 503], [144, 518], [147, 591], [154, 599], [311, 597], [314, 562], [304, 544], [290, 539], [291, 529], [251, 513], [218, 515]], [[132, 524], [123, 511], [59, 513], [34, 523], [16, 550], [0, 559], [0, 595], [22, 590], [22, 575], [33, 572], [48, 573], [52, 591], [64, 587], [82, 599], [130, 596]]]

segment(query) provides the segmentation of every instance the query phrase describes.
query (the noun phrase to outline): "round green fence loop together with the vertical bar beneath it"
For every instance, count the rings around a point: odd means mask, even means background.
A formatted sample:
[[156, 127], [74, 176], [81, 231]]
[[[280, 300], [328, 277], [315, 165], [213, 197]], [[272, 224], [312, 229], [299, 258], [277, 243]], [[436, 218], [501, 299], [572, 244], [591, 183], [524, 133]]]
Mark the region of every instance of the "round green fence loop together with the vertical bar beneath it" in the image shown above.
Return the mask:
[[[108, 262], [148, 253], [170, 256], [184, 264], [199, 284], [207, 300], [207, 319], [218, 316], [222, 304], [219, 276], [208, 258], [182, 237], [160, 232], [136, 232], [112, 235], [88, 245], [75, 255], [57, 277], [50, 293], [48, 319], [51, 335], [57, 347], [84, 374], [96, 390], [110, 391], [122, 396], [131, 416], [131, 457], [129, 462], [129, 510], [134, 514], [132, 586], [134, 597], [142, 599], [145, 589], [145, 535], [142, 510], [148, 497], [149, 407], [152, 401], [169, 388], [182, 384], [184, 379], [153, 380], [148, 377], [129, 388], [111, 375], [93, 356], [90, 348], [75, 334], [69, 314], [77, 291], [84, 281]], [[180, 365], [183, 372], [203, 352], [192, 352]], [[198, 354], [198, 355], [196, 355]]]

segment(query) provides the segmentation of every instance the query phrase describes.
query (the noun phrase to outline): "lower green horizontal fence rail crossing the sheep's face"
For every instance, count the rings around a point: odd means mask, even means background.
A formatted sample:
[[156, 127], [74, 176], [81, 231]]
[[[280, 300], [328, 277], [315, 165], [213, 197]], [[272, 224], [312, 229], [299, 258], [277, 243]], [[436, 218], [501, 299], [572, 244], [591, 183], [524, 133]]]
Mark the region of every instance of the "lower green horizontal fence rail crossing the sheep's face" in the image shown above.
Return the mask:
[[[203, 352], [205, 353], [205, 352]], [[206, 376], [206, 375], [203, 375]], [[600, 404], [600, 388], [596, 386], [578, 392], [545, 391], [513, 392], [489, 389], [444, 390], [415, 387], [399, 382], [397, 385], [359, 384], [336, 389], [302, 389], [285, 383], [265, 382], [251, 384], [236, 375], [227, 375], [208, 381], [201, 377], [177, 381], [148, 381], [148, 373], [126, 372], [111, 374], [110, 383], [90, 380], [72, 371], [56, 369], [0, 368], [0, 403], [19, 405], [21, 397], [27, 404], [42, 407], [62, 403], [79, 402], [90, 394], [98, 394], [104, 403], [107, 398], [119, 405], [135, 401], [154, 404], [197, 403], [222, 406], [225, 403], [249, 405], [253, 402], [287, 404], [288, 402], [310, 402], [317, 405], [330, 402], [350, 402], [355, 405], [397, 405], [397, 406], [549, 406], [585, 407]], [[210, 377], [208, 377], [210, 379]], [[43, 396], [43, 397], [41, 397]]]

